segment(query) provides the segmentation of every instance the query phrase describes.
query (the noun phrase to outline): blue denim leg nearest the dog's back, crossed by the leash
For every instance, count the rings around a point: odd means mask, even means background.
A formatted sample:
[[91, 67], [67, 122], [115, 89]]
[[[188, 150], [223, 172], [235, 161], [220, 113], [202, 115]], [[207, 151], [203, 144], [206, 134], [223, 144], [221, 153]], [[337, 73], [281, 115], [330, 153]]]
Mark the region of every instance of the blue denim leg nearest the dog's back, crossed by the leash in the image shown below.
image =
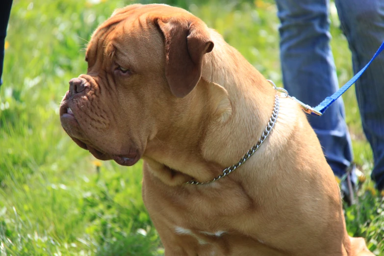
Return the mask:
[[[329, 41], [329, 0], [276, 0], [281, 22], [280, 54], [284, 87], [302, 102], [316, 106], [338, 89]], [[334, 174], [350, 165], [351, 138], [340, 98], [322, 117], [309, 116]]]

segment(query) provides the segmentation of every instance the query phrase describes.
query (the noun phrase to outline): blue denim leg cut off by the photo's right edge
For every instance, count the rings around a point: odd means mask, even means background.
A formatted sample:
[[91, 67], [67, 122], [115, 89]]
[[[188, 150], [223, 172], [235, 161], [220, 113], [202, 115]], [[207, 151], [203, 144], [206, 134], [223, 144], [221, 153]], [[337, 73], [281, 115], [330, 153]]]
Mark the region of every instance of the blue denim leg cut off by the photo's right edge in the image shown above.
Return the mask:
[[[336, 0], [337, 12], [352, 51], [354, 72], [364, 67], [384, 41], [384, 0]], [[365, 136], [371, 144], [371, 174], [384, 189], [384, 54], [356, 82], [356, 95]]]

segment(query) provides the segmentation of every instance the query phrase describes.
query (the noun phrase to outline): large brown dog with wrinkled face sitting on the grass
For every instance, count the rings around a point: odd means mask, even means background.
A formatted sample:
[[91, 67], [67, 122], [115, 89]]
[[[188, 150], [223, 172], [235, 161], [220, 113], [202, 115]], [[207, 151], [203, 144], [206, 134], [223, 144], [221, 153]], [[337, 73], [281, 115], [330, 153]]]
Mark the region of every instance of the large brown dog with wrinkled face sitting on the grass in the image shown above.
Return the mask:
[[[166, 256], [363, 256], [339, 189], [300, 107], [189, 12], [115, 11], [93, 34], [87, 75], [70, 81], [65, 131], [95, 157], [144, 159], [143, 199]], [[271, 130], [268, 128], [268, 130]]]

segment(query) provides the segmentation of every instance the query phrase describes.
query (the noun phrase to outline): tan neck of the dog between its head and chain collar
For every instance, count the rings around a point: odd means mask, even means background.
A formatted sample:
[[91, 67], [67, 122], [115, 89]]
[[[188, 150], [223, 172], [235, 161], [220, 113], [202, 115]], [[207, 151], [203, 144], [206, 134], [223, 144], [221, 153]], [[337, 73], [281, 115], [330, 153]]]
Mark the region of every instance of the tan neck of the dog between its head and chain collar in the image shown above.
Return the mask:
[[177, 127], [159, 130], [143, 157], [169, 185], [221, 174], [255, 145], [272, 113], [272, 86], [219, 34], [212, 36], [214, 51], [205, 55], [202, 79], [183, 99], [186, 107], [177, 110]]

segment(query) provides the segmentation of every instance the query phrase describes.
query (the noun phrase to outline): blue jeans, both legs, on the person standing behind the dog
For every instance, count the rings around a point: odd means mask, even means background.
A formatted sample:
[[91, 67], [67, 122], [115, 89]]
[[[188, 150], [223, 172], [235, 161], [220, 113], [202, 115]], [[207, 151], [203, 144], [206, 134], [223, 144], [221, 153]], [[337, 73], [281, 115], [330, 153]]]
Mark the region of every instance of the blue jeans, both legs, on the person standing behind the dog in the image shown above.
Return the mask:
[[[329, 0], [276, 0], [281, 21], [280, 50], [284, 87], [316, 106], [338, 89], [330, 47]], [[342, 30], [352, 51], [354, 72], [384, 41], [384, 0], [335, 0]], [[384, 54], [356, 83], [362, 127], [374, 155], [371, 177], [384, 189]], [[342, 176], [353, 159], [352, 143], [340, 98], [322, 117], [309, 117], [327, 161]]]

